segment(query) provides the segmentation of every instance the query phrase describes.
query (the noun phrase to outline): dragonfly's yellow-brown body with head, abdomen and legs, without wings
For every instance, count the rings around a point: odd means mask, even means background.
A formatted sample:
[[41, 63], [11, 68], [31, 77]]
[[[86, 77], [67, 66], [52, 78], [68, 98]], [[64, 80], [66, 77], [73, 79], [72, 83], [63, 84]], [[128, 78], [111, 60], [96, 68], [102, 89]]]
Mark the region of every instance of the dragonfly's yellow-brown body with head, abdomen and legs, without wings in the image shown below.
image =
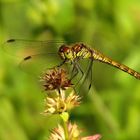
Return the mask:
[[[62, 45], [59, 48], [59, 55], [61, 57], [61, 59], [63, 60], [63, 63], [71, 63], [73, 64], [73, 67], [76, 69], [76, 74], [73, 75], [73, 77], [75, 77], [78, 73], [78, 71], [81, 71], [81, 73], [83, 74], [82, 69], [80, 68], [80, 66], [78, 65], [78, 61], [80, 61], [81, 59], [90, 59], [90, 65], [88, 68], [88, 72], [91, 71], [91, 80], [92, 80], [92, 65], [93, 65], [93, 61], [99, 61], [105, 64], [108, 64], [110, 66], [113, 66], [121, 71], [124, 71], [128, 74], [130, 74], [131, 76], [135, 77], [136, 79], [140, 80], [140, 73], [131, 69], [130, 67], [121, 64], [117, 61], [112, 60], [111, 58], [107, 57], [106, 55], [104, 55], [103, 53], [101, 53], [100, 51], [90, 48], [87, 45], [85, 45], [84, 43], [76, 43], [73, 45]], [[92, 81], [91, 81], [92, 82]], [[89, 84], [89, 89], [91, 87], [91, 83]]]

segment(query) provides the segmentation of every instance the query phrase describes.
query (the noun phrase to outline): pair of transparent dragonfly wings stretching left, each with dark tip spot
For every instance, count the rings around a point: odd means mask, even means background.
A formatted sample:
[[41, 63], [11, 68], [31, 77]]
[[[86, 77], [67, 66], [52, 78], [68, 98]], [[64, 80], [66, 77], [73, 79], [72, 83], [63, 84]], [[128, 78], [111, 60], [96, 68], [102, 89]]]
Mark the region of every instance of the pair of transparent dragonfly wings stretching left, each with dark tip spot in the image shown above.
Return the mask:
[[41, 72], [61, 63], [57, 53], [63, 41], [33, 41], [10, 39], [4, 43], [6, 53], [21, 58], [18, 67], [30, 75], [39, 76]]

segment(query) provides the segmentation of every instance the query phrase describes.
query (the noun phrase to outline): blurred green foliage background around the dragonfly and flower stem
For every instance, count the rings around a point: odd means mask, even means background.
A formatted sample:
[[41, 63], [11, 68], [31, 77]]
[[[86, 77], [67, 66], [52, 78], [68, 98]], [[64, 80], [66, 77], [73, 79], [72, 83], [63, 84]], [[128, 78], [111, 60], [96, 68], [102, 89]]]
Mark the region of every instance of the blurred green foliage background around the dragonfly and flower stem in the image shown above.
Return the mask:
[[[139, 0], [1, 0], [0, 44], [10, 38], [82, 41], [140, 72]], [[0, 140], [45, 140], [57, 117], [44, 117], [44, 93], [0, 47]], [[140, 81], [98, 62], [93, 86], [72, 121], [84, 135], [140, 139]]]

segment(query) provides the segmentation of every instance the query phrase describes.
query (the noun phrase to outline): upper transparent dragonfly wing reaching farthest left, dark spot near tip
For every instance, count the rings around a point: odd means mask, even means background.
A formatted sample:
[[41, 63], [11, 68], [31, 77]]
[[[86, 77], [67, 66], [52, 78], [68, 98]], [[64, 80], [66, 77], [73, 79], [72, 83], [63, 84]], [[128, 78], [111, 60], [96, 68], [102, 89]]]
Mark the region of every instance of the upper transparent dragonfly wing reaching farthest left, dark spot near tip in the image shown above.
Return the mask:
[[62, 44], [64, 44], [64, 41], [34, 41], [24, 39], [10, 39], [4, 43], [3, 49], [10, 55], [24, 58], [28, 55], [34, 55], [44, 52], [57, 52], [58, 48]]

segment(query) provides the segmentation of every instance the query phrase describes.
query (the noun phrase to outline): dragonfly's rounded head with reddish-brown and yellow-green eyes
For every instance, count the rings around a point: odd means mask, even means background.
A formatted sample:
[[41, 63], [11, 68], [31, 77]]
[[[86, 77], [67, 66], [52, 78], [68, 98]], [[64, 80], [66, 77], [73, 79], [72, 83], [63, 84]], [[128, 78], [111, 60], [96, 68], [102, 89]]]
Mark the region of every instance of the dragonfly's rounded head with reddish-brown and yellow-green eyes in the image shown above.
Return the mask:
[[73, 52], [68, 45], [61, 45], [59, 55], [63, 60], [71, 60], [73, 58]]

